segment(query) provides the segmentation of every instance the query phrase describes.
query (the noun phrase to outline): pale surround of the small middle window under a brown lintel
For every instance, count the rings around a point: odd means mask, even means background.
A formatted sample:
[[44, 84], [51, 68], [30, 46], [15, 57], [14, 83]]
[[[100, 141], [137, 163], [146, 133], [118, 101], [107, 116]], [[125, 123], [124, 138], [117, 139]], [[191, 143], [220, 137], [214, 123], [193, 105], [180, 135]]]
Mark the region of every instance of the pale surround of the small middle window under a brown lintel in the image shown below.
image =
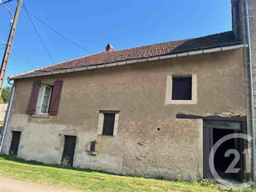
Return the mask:
[[100, 111], [99, 112], [99, 120], [98, 120], [98, 129], [97, 129], [97, 133], [98, 135], [103, 135], [103, 123], [104, 123], [104, 114], [105, 113], [114, 113], [115, 114], [115, 120], [114, 120], [114, 130], [113, 130], [113, 135], [104, 135], [104, 136], [109, 136], [109, 137], [113, 137], [113, 136], [117, 136], [117, 128], [118, 128], [118, 121], [119, 121], [119, 112], [109, 112], [109, 111]]

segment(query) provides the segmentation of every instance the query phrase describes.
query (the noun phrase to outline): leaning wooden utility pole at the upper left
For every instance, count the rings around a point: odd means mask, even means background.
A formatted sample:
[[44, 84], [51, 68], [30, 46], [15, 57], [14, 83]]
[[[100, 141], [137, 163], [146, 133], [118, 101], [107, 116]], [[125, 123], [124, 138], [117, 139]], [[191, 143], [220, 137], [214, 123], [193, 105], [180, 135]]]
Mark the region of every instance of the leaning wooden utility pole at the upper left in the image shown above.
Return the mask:
[[5, 78], [5, 71], [6, 71], [7, 63], [8, 63], [9, 57], [10, 57], [10, 53], [11, 53], [12, 42], [14, 39], [14, 34], [15, 34], [15, 30], [16, 30], [16, 26], [17, 26], [17, 22], [18, 22], [18, 17], [20, 15], [22, 1], [23, 0], [18, 0], [18, 5], [17, 5], [15, 15], [14, 15], [14, 20], [12, 21], [9, 38], [8, 38], [6, 48], [5, 48], [4, 58], [2, 60], [2, 65], [1, 65], [1, 70], [0, 70], [0, 96], [2, 93], [2, 88], [3, 88], [4, 78]]

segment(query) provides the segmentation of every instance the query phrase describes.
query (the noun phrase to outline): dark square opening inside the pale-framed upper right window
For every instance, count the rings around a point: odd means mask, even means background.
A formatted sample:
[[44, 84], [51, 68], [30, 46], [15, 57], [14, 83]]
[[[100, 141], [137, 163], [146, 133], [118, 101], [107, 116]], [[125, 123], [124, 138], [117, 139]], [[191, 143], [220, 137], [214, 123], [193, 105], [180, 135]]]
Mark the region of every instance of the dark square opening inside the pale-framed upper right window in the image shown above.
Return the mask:
[[172, 100], [192, 100], [192, 77], [172, 78]]

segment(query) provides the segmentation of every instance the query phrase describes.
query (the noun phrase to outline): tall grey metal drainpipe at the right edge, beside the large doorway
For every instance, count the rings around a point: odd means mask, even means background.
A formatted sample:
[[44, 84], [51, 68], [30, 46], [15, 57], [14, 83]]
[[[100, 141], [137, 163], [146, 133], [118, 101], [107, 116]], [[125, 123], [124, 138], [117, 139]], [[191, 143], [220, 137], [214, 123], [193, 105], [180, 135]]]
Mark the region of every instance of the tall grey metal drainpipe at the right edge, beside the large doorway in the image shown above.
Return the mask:
[[248, 52], [249, 52], [249, 72], [250, 72], [250, 104], [251, 104], [251, 131], [252, 131], [252, 175], [255, 182], [255, 117], [254, 117], [254, 86], [252, 79], [252, 54], [251, 54], [251, 34], [250, 34], [250, 23], [249, 23], [249, 11], [248, 1], [245, 0], [245, 15], [246, 15], [246, 30], [247, 30], [247, 41], [248, 41]]

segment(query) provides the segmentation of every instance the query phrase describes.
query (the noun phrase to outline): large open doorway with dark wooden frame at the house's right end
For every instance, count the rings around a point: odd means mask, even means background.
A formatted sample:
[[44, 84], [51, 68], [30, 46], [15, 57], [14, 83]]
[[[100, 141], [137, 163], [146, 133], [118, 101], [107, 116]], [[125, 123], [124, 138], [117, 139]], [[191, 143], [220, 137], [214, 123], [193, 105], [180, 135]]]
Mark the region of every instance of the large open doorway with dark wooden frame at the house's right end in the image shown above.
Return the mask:
[[[209, 155], [214, 144], [218, 140], [223, 139], [226, 135], [234, 133], [244, 133], [244, 123], [242, 122], [230, 122], [230, 121], [204, 121], [203, 128], [203, 171], [204, 178], [214, 178], [210, 171]], [[224, 141], [224, 140], [223, 140]], [[245, 149], [245, 141], [240, 138], [231, 138], [223, 142], [218, 146], [214, 155], [214, 167], [220, 177], [225, 180], [239, 180], [242, 181], [245, 178], [245, 156], [243, 151]], [[229, 149], [237, 151], [237, 158], [239, 161], [235, 162], [235, 154], [225, 156], [225, 153]], [[227, 171], [231, 163], [235, 162], [234, 169], [240, 169], [239, 172], [230, 173]]]

